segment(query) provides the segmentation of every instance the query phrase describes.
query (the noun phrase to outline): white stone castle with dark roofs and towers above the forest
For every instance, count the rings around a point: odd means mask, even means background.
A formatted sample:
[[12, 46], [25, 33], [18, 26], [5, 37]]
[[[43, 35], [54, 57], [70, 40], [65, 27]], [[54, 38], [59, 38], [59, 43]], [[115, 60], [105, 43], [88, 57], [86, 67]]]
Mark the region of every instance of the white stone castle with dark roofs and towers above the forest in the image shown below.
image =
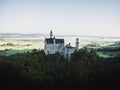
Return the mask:
[[44, 43], [44, 51], [46, 55], [58, 52], [67, 59], [70, 59], [71, 54], [74, 53], [75, 50], [79, 49], [78, 38], [76, 39], [75, 47], [72, 47], [70, 43], [64, 46], [64, 39], [56, 39], [53, 37], [52, 31], [50, 31], [50, 38], [45, 38]]

